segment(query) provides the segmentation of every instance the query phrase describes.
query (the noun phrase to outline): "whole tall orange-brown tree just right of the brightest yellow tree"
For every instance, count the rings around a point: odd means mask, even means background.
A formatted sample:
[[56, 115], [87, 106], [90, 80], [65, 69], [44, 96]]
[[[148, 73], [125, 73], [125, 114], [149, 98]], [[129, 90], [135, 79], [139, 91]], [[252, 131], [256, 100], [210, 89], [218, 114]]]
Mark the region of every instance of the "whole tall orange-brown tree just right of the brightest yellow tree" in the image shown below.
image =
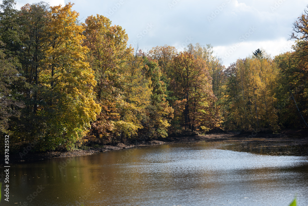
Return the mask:
[[132, 48], [126, 47], [128, 35], [122, 27], [111, 26], [108, 18], [98, 14], [89, 16], [83, 26], [84, 45], [90, 49], [87, 61], [95, 71], [95, 92], [102, 106], [97, 121], [91, 124], [91, 134], [106, 141], [136, 134], [140, 126], [129, 115], [133, 107], [123, 97], [125, 89], [129, 87], [125, 79], [126, 63], [132, 53]]

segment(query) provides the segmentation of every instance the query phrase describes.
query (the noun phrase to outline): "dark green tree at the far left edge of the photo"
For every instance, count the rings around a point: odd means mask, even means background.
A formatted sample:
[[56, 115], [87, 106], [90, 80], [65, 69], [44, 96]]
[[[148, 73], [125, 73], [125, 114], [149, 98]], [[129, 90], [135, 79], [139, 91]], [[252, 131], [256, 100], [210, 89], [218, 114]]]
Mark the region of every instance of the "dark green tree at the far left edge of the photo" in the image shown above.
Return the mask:
[[[18, 75], [17, 58], [21, 31], [18, 25], [19, 11], [13, 0], [0, 5], [0, 134], [10, 134], [13, 119], [18, 118], [24, 106], [22, 97], [23, 78]], [[13, 139], [12, 139], [12, 142]]]

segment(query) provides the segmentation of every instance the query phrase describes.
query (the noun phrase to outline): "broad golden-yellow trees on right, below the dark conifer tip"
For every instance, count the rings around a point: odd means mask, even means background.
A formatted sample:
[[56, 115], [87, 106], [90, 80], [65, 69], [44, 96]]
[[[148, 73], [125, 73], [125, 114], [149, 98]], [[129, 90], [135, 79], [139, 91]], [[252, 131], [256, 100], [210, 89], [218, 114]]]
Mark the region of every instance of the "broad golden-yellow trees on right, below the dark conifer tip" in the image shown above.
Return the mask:
[[239, 59], [226, 70], [228, 105], [225, 116], [229, 128], [278, 130], [278, 74], [277, 65], [268, 55], [262, 59]]

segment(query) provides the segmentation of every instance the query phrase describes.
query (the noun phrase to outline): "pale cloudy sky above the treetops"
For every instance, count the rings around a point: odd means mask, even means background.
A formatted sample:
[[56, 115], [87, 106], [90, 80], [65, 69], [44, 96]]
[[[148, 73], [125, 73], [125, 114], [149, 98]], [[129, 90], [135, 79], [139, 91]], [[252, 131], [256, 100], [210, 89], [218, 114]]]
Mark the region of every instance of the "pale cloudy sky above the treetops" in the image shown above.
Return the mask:
[[[17, 8], [35, 0], [18, 0]], [[64, 5], [68, 0], [50, 0]], [[290, 51], [292, 23], [304, 0], [72, 0], [79, 19], [101, 14], [120, 25], [133, 47], [150, 50], [164, 44], [183, 50], [188, 43], [211, 44], [229, 66], [258, 48], [271, 56]]]

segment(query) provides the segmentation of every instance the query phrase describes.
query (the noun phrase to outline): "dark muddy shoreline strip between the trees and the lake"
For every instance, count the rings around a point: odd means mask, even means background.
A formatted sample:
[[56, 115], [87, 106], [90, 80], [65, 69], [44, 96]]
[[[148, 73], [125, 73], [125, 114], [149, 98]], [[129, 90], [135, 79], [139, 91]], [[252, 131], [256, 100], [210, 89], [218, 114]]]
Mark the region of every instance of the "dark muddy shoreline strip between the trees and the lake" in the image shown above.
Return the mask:
[[[100, 152], [106, 152], [111, 150], [121, 150], [132, 147], [139, 146], [153, 146], [161, 144], [176, 144], [176, 143], [192, 143], [192, 142], [217, 142], [217, 141], [230, 141], [230, 142], [255, 142], [263, 141], [273, 143], [277, 141], [282, 141], [284, 145], [302, 145], [308, 144], [308, 130], [283, 130], [279, 134], [265, 134], [265, 133], [245, 133], [239, 134], [234, 132], [226, 133], [213, 133], [206, 135], [197, 136], [185, 136], [185, 137], [167, 137], [164, 139], [152, 139], [149, 141], [142, 141], [140, 144], [135, 145], [131, 142], [129, 143], [118, 143], [115, 146], [105, 145], [105, 146], [82, 146], [79, 149], [71, 151], [53, 151], [53, 152], [34, 152], [24, 155], [11, 154], [10, 164], [21, 164], [21, 163], [33, 163], [39, 162], [46, 159], [61, 158], [61, 157], [73, 157], [73, 156], [83, 156], [92, 155]], [[22, 156], [22, 158], [21, 158]], [[1, 165], [3, 163], [1, 162]]]

